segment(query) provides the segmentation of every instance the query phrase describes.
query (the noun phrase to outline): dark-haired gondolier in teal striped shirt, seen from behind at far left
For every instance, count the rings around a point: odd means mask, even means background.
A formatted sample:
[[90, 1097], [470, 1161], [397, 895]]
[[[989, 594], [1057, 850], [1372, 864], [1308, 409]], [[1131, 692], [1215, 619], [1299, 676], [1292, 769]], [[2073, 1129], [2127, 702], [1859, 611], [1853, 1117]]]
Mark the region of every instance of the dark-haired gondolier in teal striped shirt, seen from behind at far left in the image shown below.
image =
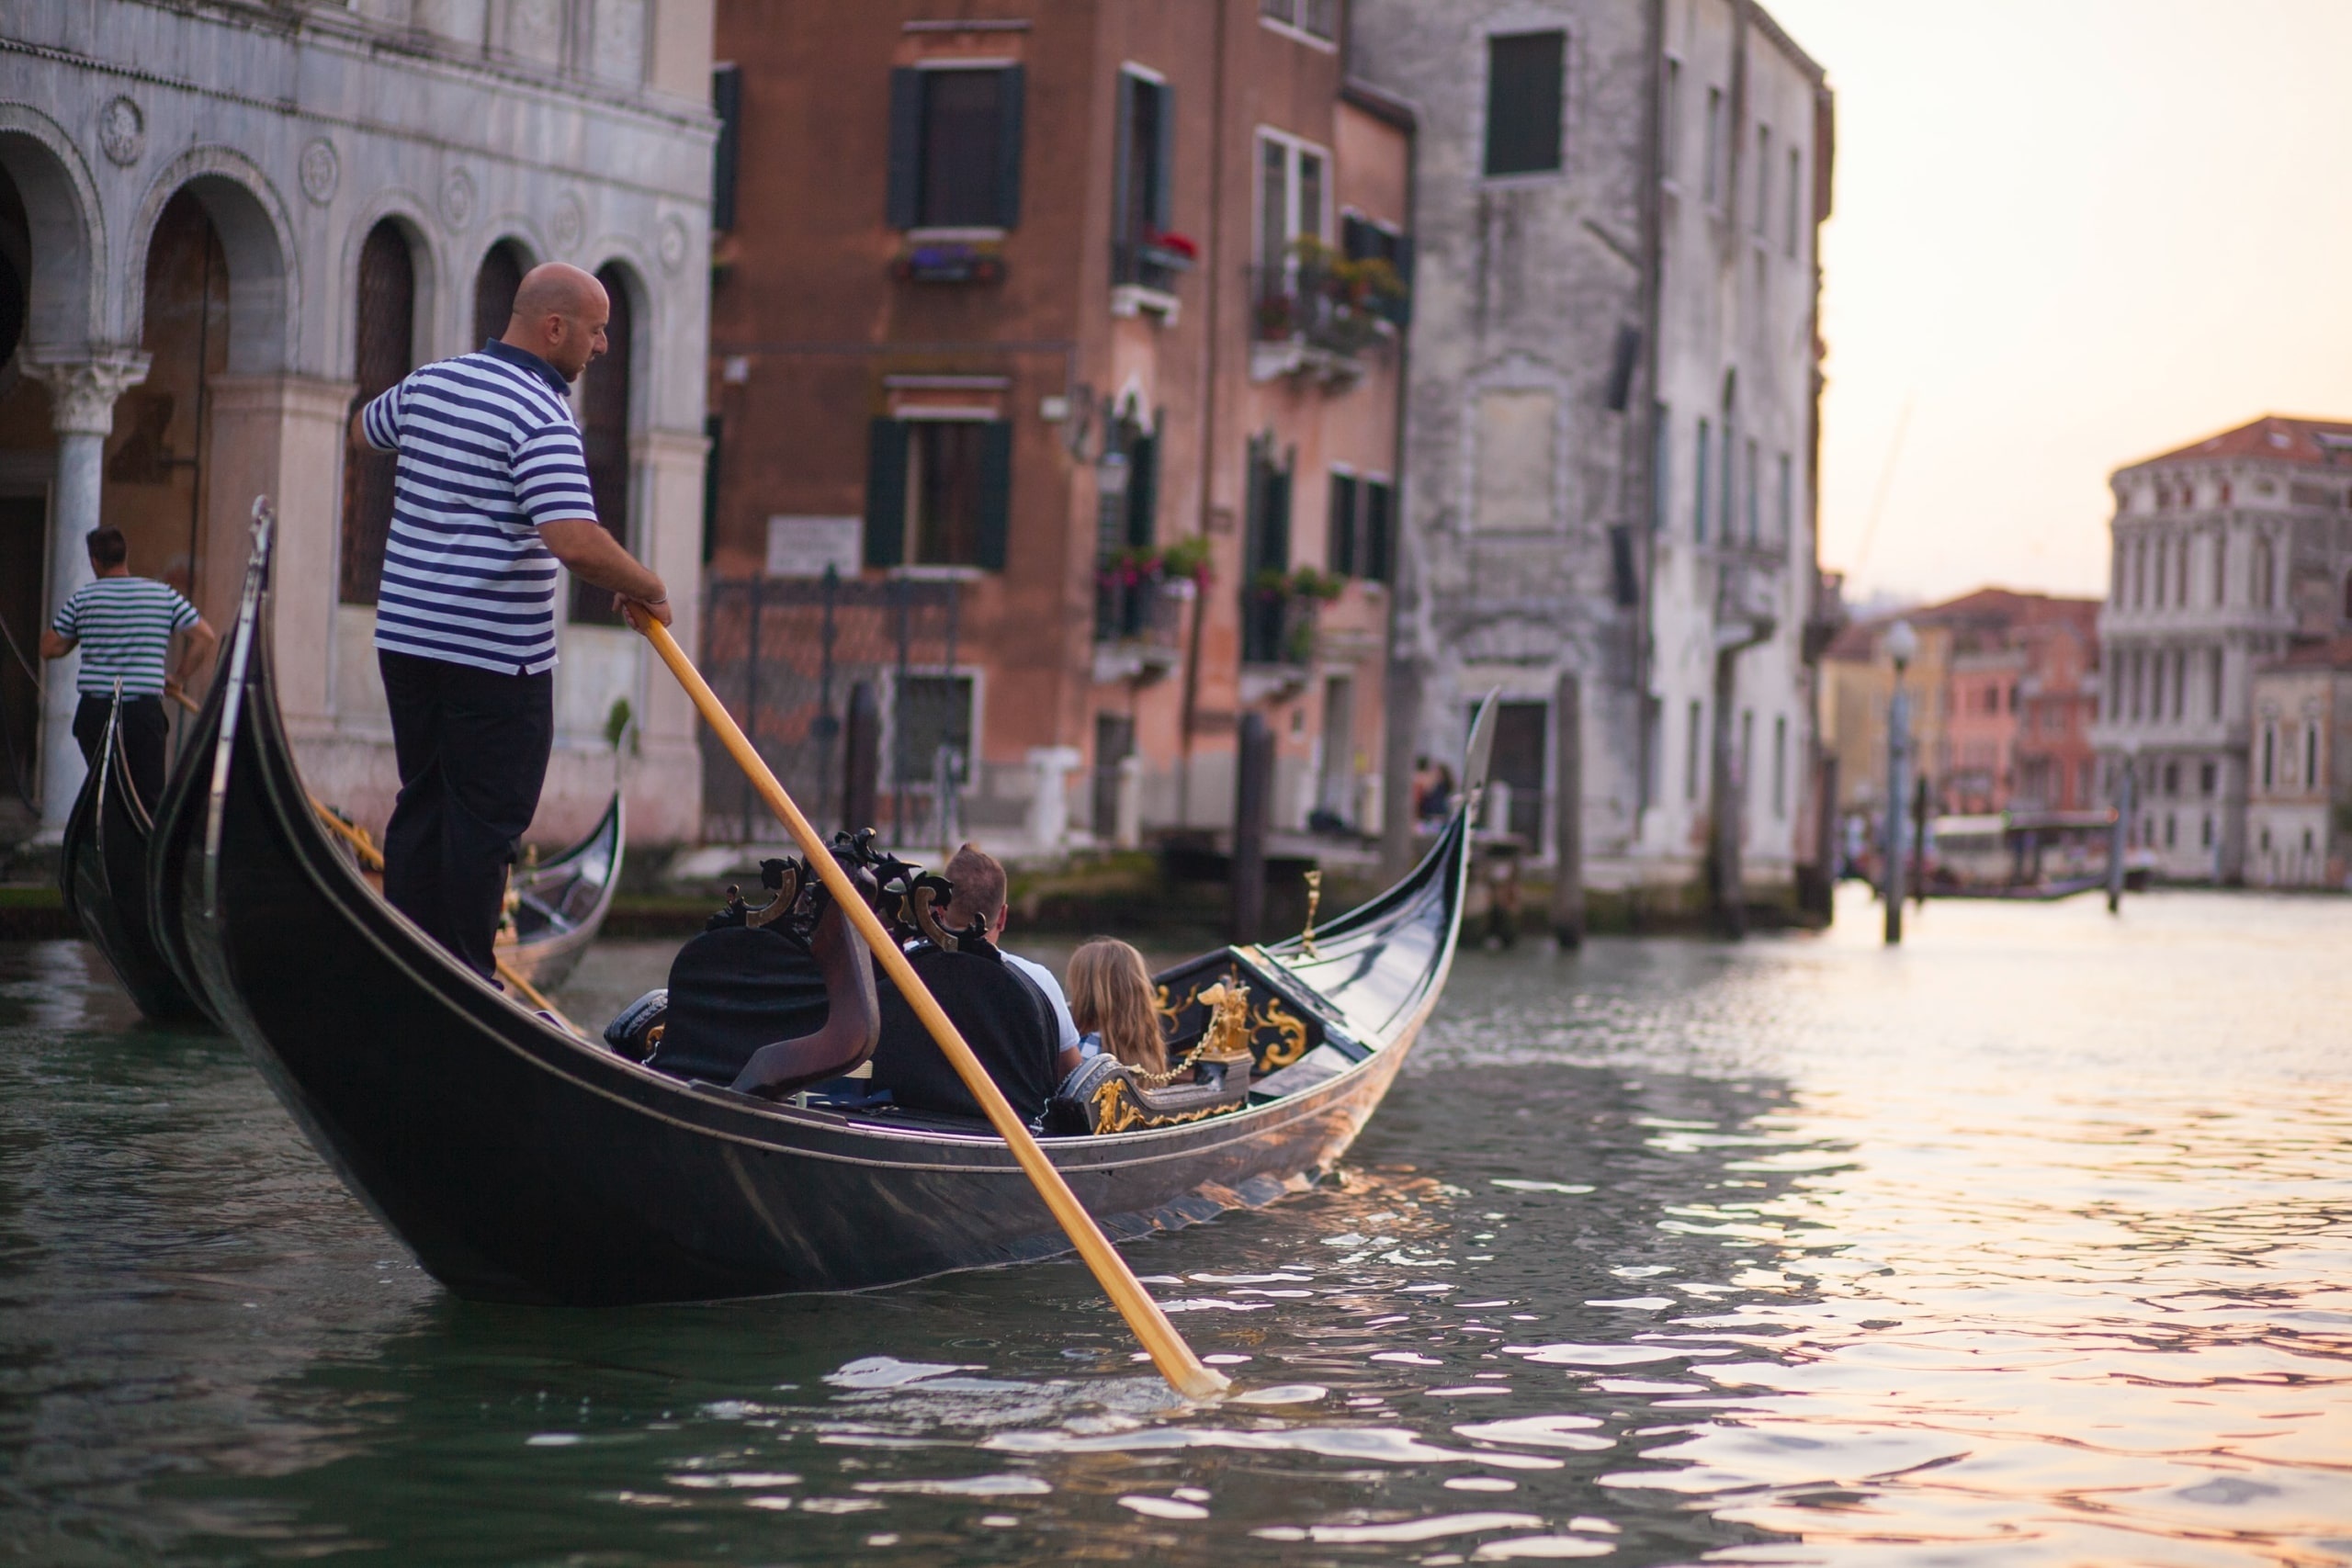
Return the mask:
[[[155, 811], [169, 736], [162, 698], [179, 696], [198, 677], [219, 635], [169, 583], [132, 576], [132, 548], [122, 529], [89, 529], [85, 543], [96, 581], [82, 583], [56, 607], [49, 630], [40, 635], [40, 656], [64, 658], [82, 649], [82, 672], [75, 679], [82, 701], [73, 710], [73, 738], [92, 769], [99, 766], [99, 745], [106, 741], [115, 682], [122, 682], [122, 755], [129, 759], [139, 804]], [[188, 642], [181, 646], [179, 670], [167, 675], [176, 632], [186, 632]]]

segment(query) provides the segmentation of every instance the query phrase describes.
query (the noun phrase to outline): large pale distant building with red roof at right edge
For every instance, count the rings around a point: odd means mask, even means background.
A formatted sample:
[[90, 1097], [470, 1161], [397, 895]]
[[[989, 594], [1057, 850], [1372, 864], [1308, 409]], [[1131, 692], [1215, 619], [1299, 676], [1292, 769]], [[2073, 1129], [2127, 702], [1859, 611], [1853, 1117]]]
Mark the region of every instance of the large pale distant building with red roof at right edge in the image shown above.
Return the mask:
[[2253, 672], [2352, 628], [2352, 423], [2265, 416], [2117, 468], [2093, 741], [2157, 875], [2249, 875]]

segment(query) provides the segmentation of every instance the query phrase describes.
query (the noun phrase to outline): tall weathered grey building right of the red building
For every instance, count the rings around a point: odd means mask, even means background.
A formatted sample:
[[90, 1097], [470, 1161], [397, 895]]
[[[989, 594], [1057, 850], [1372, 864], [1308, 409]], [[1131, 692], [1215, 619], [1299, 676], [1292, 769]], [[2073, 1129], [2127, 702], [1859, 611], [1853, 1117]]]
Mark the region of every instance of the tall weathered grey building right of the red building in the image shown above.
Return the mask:
[[1722, 896], [1745, 863], [1785, 896], [1816, 856], [1820, 66], [1752, 0], [1359, 0], [1350, 47], [1421, 120], [1421, 748], [1501, 691], [1496, 773], [1550, 856], [1573, 677], [1585, 882]]

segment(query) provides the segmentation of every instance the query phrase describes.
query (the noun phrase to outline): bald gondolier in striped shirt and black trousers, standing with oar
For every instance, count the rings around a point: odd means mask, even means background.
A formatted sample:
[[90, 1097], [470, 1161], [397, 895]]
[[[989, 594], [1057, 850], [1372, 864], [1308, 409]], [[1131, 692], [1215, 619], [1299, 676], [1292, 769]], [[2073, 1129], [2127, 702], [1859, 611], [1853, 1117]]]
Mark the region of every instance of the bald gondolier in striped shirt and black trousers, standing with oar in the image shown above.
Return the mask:
[[358, 440], [400, 454], [376, 592], [400, 762], [383, 896], [485, 978], [555, 741], [557, 562], [670, 623], [661, 578], [597, 522], [572, 418], [609, 315], [588, 273], [532, 268], [503, 339], [353, 416]]

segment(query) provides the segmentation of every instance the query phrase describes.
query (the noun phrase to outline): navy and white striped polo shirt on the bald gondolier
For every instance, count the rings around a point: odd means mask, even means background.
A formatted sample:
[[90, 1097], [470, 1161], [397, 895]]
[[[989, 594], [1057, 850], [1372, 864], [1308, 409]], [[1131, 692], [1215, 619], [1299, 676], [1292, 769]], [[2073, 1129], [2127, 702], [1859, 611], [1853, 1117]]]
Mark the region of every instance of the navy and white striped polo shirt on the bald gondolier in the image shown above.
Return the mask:
[[360, 416], [397, 451], [376, 646], [503, 675], [555, 663], [555, 557], [539, 524], [595, 520], [555, 367], [508, 343], [412, 371]]

